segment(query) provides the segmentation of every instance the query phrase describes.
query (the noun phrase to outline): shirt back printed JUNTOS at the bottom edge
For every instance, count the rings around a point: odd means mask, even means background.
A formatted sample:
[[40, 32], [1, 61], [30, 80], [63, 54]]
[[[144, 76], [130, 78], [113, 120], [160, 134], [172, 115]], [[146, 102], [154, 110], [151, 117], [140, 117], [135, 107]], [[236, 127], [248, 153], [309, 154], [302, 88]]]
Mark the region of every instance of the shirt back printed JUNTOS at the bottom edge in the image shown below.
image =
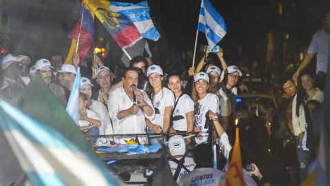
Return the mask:
[[182, 177], [179, 181], [179, 186], [225, 185], [225, 181], [220, 180], [220, 177], [223, 175], [225, 175], [225, 172], [211, 167], [198, 168]]

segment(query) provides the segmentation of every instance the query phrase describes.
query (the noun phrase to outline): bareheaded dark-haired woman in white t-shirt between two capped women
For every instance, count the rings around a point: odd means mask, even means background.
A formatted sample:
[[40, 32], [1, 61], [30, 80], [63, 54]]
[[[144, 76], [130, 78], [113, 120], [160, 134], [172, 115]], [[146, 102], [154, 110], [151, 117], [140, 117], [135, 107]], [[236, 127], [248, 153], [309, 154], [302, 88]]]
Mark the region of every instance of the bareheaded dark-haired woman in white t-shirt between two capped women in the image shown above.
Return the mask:
[[[172, 110], [173, 129], [175, 132], [192, 132], [194, 128], [194, 101], [187, 94], [182, 93], [183, 81], [181, 76], [176, 72], [168, 74], [168, 87], [175, 94], [175, 105]], [[190, 135], [190, 134], [188, 134]], [[184, 135], [183, 135], [184, 136]], [[186, 144], [191, 142], [190, 138], [186, 138]]]

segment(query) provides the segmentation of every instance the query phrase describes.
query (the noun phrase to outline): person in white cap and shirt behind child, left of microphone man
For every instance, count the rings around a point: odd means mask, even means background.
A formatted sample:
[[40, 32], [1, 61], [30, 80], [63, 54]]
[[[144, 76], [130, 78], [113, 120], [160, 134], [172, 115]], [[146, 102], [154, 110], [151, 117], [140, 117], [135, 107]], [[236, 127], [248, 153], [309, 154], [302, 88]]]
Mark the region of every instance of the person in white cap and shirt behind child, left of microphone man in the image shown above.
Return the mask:
[[91, 81], [85, 77], [80, 79], [80, 92], [86, 94], [87, 96], [87, 108], [96, 112], [96, 114], [100, 115], [101, 127], [100, 128], [100, 135], [110, 135], [113, 134], [111, 121], [109, 118], [107, 107], [100, 101], [96, 101], [91, 99]]

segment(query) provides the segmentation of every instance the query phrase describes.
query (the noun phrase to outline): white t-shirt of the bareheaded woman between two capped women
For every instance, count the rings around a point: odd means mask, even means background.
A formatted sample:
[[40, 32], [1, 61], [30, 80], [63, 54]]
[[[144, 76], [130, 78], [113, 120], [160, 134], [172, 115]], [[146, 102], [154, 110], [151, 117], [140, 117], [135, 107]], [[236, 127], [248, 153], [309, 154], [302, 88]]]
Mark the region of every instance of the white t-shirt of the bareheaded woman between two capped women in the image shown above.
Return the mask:
[[[178, 98], [175, 98], [175, 102], [177, 102]], [[177, 102], [177, 107], [175, 107], [175, 111], [173, 112], [173, 128], [174, 130], [182, 130], [187, 131], [187, 116], [188, 112], [194, 111], [195, 103], [192, 101], [190, 96], [184, 94], [181, 96], [179, 101]], [[173, 106], [174, 108], [174, 106]]]

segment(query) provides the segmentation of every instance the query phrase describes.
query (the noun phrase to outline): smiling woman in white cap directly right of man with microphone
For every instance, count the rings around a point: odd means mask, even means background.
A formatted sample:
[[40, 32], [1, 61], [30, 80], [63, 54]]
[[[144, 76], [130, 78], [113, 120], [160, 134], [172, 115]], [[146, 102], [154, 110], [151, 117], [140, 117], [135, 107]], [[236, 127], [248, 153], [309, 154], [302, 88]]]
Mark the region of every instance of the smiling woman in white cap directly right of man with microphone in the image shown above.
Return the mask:
[[[155, 119], [149, 121], [146, 119], [146, 125], [149, 127], [149, 133], [167, 132], [170, 125], [170, 113], [174, 106], [175, 97], [172, 91], [165, 87], [163, 70], [158, 65], [151, 65], [148, 68], [148, 85], [146, 85], [146, 94], [155, 108]], [[152, 129], [152, 130], [151, 130]], [[156, 139], [151, 144], [158, 143]]]

